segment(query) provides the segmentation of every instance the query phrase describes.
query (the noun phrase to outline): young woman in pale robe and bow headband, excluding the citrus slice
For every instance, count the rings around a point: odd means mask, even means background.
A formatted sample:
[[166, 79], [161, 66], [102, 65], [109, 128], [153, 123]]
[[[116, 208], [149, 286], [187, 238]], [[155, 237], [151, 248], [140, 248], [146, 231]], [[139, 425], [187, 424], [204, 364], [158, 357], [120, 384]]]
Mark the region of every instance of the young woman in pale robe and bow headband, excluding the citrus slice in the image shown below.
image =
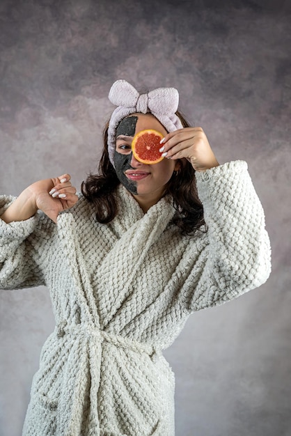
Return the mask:
[[[0, 198], [0, 287], [47, 285], [56, 329], [33, 378], [24, 435], [174, 435], [174, 375], [162, 355], [188, 316], [270, 273], [262, 206], [245, 162], [219, 165], [178, 91], [116, 81], [100, 173]], [[164, 135], [155, 165], [134, 134]]]

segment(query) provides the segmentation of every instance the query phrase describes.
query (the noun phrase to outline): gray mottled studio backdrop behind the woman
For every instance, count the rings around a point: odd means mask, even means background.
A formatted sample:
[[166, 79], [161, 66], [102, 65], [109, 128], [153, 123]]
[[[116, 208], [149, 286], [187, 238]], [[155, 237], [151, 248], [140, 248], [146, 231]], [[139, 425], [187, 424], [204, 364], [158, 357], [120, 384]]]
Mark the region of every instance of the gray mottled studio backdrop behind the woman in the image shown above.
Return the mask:
[[[282, 0], [0, 2], [1, 193], [64, 172], [79, 187], [97, 166], [119, 78], [177, 87], [219, 161], [249, 163], [272, 276], [191, 316], [166, 350], [178, 436], [291, 434], [290, 13]], [[0, 295], [0, 433], [19, 436], [54, 322], [45, 288]]]

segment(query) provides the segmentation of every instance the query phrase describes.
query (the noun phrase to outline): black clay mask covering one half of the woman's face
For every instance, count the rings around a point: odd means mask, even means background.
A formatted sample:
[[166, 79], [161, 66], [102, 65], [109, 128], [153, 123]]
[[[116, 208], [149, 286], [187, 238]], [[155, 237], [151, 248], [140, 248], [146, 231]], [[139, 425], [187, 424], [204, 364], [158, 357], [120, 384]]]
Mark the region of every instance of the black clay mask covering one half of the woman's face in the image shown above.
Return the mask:
[[[128, 116], [127, 118], [124, 118], [116, 129], [116, 137], [119, 135], [123, 135], [125, 137], [134, 137], [137, 120], [137, 116]], [[127, 169], [132, 169], [132, 166], [130, 165], [131, 160], [132, 153], [129, 155], [123, 155], [115, 150], [114, 165], [116, 175], [120, 180], [120, 183], [122, 183], [129, 192], [132, 194], [137, 194], [136, 182], [128, 180], [127, 176], [125, 176], [125, 171], [127, 171]]]

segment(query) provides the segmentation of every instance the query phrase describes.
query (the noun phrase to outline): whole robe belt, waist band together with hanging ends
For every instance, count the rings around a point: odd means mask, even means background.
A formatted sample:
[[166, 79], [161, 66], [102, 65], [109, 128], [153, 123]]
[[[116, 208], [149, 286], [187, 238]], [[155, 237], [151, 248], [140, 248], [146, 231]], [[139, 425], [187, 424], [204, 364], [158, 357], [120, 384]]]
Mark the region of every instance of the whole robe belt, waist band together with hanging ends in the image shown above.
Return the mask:
[[[104, 332], [88, 322], [68, 324], [68, 322], [62, 321], [56, 325], [55, 334], [58, 338], [64, 338], [65, 341], [72, 343], [63, 373], [65, 389], [62, 389], [58, 400], [56, 436], [80, 435], [80, 428], [76, 425], [76, 417], [82, 415], [81, 407], [85, 403], [87, 395], [89, 397], [88, 419], [91, 423], [91, 431], [88, 434], [99, 435], [97, 393], [100, 385], [102, 344], [112, 344], [117, 349], [124, 348], [139, 354], [146, 353], [153, 362], [159, 359], [161, 350], [156, 350], [152, 345], [132, 341], [118, 334]], [[100, 348], [98, 348], [98, 344]], [[77, 363], [76, 355], [79, 356]], [[90, 380], [88, 394], [84, 391], [86, 377]], [[70, 386], [69, 397], [68, 386]]]

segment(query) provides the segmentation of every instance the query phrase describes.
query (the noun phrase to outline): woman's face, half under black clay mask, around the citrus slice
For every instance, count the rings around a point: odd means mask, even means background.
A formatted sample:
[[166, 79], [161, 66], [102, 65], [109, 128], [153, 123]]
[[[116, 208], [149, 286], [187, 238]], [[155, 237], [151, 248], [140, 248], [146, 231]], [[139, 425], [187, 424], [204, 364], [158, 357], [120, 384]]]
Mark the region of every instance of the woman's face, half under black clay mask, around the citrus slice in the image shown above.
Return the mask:
[[[116, 130], [114, 165], [120, 182], [132, 193], [144, 212], [162, 198], [177, 161], [163, 159], [158, 164], [141, 164], [132, 154], [132, 139], [141, 130], [154, 129], [166, 136], [164, 126], [152, 114], [132, 114]], [[162, 147], [162, 146], [161, 146]]]

